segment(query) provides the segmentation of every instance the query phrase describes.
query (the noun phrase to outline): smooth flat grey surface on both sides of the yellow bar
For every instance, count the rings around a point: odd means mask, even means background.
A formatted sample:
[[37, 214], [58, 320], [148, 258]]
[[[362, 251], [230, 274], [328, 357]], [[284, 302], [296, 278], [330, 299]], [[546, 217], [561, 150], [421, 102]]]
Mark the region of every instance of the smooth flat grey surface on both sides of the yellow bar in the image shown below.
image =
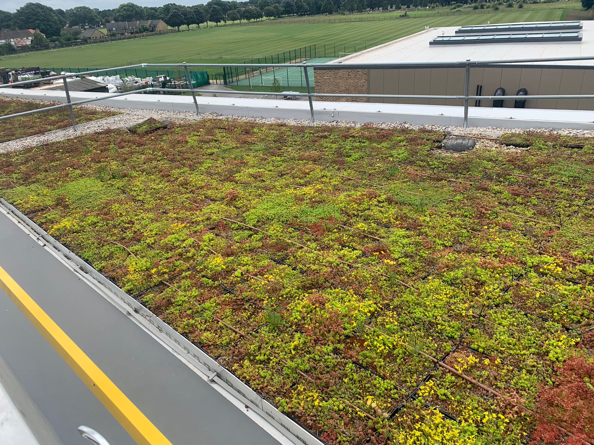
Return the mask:
[[[1, 212], [0, 266], [173, 445], [279, 444]], [[134, 444], [1, 290], [0, 356], [64, 445], [81, 424]]]

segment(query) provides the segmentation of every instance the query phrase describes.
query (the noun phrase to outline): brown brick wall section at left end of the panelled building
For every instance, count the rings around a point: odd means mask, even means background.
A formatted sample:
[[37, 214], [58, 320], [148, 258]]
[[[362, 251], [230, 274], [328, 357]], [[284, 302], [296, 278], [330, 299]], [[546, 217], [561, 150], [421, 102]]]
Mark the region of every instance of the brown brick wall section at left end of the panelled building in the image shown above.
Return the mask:
[[[316, 69], [316, 93], [367, 94], [366, 69]], [[315, 100], [366, 102], [365, 97], [316, 97]]]

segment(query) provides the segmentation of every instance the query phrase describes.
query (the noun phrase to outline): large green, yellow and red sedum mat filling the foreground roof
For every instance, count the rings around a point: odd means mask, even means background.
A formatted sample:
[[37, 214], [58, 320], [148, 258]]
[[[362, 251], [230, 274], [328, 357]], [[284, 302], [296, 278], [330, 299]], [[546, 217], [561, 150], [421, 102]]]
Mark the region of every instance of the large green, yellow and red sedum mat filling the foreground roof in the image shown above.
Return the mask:
[[327, 443], [592, 442], [593, 141], [442, 137], [106, 131], [0, 189]]

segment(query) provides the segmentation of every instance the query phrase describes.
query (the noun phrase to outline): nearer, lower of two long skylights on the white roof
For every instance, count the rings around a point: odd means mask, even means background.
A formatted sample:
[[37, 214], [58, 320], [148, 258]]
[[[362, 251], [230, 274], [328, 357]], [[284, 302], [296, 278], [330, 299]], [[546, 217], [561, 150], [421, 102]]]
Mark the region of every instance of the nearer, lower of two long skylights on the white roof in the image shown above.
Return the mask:
[[538, 42], [581, 42], [579, 31], [526, 33], [526, 34], [471, 34], [469, 36], [438, 36], [429, 45], [476, 45], [478, 43], [538, 43]]

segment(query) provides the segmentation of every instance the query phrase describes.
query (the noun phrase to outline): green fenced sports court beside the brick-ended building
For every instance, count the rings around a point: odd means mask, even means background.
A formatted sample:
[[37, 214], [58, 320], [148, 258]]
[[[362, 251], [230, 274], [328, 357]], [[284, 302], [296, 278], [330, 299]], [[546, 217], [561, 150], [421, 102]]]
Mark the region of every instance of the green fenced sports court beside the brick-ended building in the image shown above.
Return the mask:
[[[308, 63], [326, 63], [333, 61], [336, 58], [333, 57], [318, 57], [309, 59]], [[250, 72], [249, 69], [235, 68], [238, 72], [235, 74], [235, 78], [239, 78], [238, 81], [233, 81], [231, 85], [272, 85], [274, 79], [278, 79], [282, 87], [305, 87], [305, 75], [303, 68], [287, 67], [287, 68], [266, 68], [265, 66], [259, 68], [254, 67], [254, 71]], [[314, 86], [314, 69], [308, 68], [309, 84]]]

